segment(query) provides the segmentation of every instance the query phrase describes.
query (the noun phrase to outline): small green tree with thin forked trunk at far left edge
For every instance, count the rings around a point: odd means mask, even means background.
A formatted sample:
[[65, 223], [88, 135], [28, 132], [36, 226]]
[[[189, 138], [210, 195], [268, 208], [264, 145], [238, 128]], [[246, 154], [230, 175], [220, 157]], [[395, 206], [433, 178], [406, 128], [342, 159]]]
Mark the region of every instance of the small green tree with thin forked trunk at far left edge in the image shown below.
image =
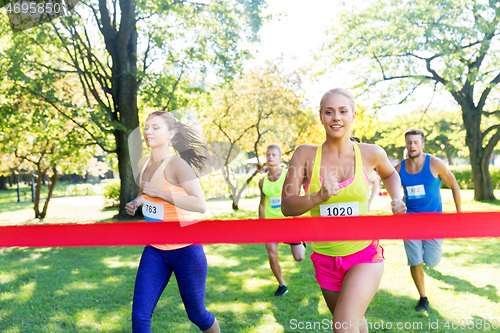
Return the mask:
[[[84, 173], [96, 147], [87, 133], [43, 99], [14, 88], [3, 96], [0, 106], [0, 154], [6, 157], [1, 169], [35, 179], [33, 209], [35, 218], [43, 219], [58, 178], [64, 173]], [[44, 177], [50, 178], [50, 184], [40, 208]]]

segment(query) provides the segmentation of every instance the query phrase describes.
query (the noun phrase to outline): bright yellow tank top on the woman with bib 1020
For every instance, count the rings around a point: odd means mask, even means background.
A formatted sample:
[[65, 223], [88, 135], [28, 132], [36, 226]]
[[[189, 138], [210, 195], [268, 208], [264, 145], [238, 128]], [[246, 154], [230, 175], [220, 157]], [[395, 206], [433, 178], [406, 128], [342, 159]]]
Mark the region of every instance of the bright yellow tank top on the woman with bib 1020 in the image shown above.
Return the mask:
[[[363, 162], [357, 144], [353, 143], [355, 153], [354, 177], [339, 184], [339, 194], [332, 196], [327, 202], [314, 207], [309, 211], [311, 216], [358, 216], [368, 212], [368, 199], [370, 190], [363, 174]], [[307, 194], [318, 192], [321, 189], [319, 170], [321, 167], [322, 145], [316, 150], [311, 181], [306, 191]], [[346, 220], [339, 221], [339, 231], [342, 230]], [[335, 221], [336, 222], [336, 221]], [[332, 223], [335, 223], [332, 221]], [[327, 256], [347, 256], [363, 250], [371, 244], [367, 241], [342, 241], [313, 243], [313, 251]]]

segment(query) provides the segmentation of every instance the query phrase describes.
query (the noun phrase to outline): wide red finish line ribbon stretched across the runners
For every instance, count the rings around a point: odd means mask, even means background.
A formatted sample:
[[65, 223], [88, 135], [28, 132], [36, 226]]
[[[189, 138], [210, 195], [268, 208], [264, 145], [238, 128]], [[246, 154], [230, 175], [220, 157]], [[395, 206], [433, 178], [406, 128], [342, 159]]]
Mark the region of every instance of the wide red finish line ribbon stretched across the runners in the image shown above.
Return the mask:
[[500, 212], [0, 227], [0, 247], [500, 237]]

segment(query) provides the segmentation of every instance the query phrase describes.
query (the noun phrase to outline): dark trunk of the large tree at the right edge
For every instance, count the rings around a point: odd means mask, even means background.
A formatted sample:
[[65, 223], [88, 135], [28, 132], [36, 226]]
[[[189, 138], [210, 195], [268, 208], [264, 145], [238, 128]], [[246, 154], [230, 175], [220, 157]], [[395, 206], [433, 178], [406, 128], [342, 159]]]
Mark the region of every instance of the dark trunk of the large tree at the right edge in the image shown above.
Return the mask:
[[462, 105], [462, 117], [465, 126], [465, 144], [469, 148], [474, 200], [496, 200], [488, 170], [489, 153], [483, 148], [481, 132], [482, 110]]

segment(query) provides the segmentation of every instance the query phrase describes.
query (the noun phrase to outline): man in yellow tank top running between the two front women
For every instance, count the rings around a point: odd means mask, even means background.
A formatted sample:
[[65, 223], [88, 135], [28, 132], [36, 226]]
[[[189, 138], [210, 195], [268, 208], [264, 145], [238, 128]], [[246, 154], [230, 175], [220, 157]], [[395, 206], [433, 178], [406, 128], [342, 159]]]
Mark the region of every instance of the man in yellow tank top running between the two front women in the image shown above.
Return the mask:
[[[281, 190], [285, 181], [286, 170], [281, 167], [281, 149], [277, 145], [269, 145], [266, 151], [266, 164], [269, 168], [268, 173], [259, 182], [260, 203], [259, 218], [279, 219], [284, 218], [281, 212]], [[293, 258], [296, 261], [304, 260], [305, 243], [290, 244]], [[273, 271], [276, 280], [279, 282], [275, 296], [283, 296], [288, 292], [281, 266], [278, 260], [278, 243], [266, 244], [267, 254], [269, 256], [269, 265]]]

